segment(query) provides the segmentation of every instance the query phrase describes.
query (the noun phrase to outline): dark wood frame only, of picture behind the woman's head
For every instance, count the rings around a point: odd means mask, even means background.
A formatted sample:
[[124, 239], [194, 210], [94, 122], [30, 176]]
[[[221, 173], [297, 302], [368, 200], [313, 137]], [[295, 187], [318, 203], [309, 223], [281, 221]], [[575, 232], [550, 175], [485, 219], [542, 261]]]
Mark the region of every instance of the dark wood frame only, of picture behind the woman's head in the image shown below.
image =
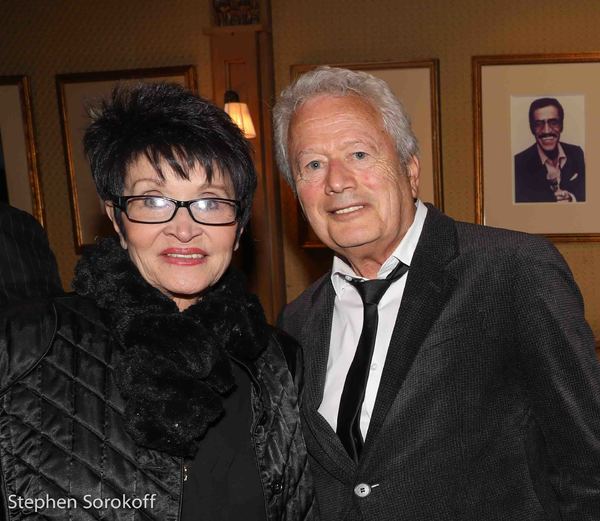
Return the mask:
[[[67, 87], [70, 84], [89, 83], [97, 86], [100, 83], [113, 82], [114, 84], [120, 81], [128, 80], [159, 80], [161, 78], [181, 77], [183, 84], [190, 90], [197, 92], [196, 69], [193, 65], [180, 65], [174, 67], [159, 67], [149, 69], [128, 69], [119, 71], [99, 71], [86, 72], [76, 74], [59, 74], [56, 76], [56, 89], [58, 95], [58, 103], [60, 109], [61, 127], [63, 134], [63, 145], [65, 162], [67, 165], [67, 173], [69, 180], [69, 190], [71, 195], [71, 209], [73, 212], [73, 233], [75, 237], [75, 247], [77, 252], [81, 252], [82, 248], [90, 242], [85, 241], [83, 223], [80, 213], [80, 195], [77, 189], [77, 179], [81, 175], [76, 172], [74, 162], [74, 131], [71, 128], [68, 114], [68, 99]], [[82, 133], [81, 129], [77, 129]], [[96, 201], [87, 201], [89, 204], [96, 204]]]

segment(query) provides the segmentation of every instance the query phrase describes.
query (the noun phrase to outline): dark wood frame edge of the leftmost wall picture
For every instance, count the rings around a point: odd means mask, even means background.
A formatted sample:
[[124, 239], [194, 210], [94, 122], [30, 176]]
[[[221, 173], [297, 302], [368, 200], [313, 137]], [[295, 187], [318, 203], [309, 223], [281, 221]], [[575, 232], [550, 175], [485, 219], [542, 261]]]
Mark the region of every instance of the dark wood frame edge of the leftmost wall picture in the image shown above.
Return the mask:
[[38, 173], [37, 152], [35, 147], [35, 136], [33, 131], [33, 116], [31, 110], [31, 90], [29, 78], [24, 75], [0, 76], [0, 85], [14, 86], [19, 91], [21, 101], [21, 122], [25, 132], [25, 154], [27, 156], [27, 181], [31, 190], [31, 213], [44, 226], [45, 212], [42, 189]]

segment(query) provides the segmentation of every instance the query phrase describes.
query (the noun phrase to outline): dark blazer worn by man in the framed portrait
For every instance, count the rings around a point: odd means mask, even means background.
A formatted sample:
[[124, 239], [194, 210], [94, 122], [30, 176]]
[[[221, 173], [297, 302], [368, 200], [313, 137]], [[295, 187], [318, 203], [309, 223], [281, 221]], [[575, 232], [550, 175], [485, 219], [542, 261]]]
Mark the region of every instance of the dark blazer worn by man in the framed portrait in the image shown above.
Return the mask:
[[[576, 145], [561, 143], [567, 162], [561, 170], [560, 188], [572, 193], [578, 202], [585, 201], [585, 161], [583, 150]], [[556, 202], [550, 183], [546, 180], [546, 167], [540, 161], [537, 145], [515, 156], [515, 202]]]

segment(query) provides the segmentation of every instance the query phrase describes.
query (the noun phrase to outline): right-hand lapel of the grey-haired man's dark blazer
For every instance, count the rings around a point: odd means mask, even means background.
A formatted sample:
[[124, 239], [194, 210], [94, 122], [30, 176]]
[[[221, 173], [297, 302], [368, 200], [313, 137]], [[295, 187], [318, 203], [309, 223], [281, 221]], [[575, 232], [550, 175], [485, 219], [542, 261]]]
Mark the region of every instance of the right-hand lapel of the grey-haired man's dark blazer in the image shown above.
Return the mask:
[[456, 280], [445, 267], [457, 255], [454, 222], [428, 205], [381, 376], [363, 454], [376, 440], [406, 374]]

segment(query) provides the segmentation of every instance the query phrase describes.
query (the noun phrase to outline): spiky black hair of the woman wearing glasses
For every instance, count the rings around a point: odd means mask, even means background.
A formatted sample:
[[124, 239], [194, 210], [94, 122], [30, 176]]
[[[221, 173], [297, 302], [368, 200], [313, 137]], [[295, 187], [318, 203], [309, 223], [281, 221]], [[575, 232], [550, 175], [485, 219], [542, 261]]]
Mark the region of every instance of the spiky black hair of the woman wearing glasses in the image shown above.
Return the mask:
[[83, 144], [103, 200], [123, 195], [129, 166], [146, 156], [160, 179], [162, 161], [183, 179], [197, 165], [208, 182], [215, 169], [229, 176], [242, 207], [238, 233], [247, 224], [257, 184], [252, 148], [223, 110], [180, 85], [139, 83], [117, 85], [89, 114]]

